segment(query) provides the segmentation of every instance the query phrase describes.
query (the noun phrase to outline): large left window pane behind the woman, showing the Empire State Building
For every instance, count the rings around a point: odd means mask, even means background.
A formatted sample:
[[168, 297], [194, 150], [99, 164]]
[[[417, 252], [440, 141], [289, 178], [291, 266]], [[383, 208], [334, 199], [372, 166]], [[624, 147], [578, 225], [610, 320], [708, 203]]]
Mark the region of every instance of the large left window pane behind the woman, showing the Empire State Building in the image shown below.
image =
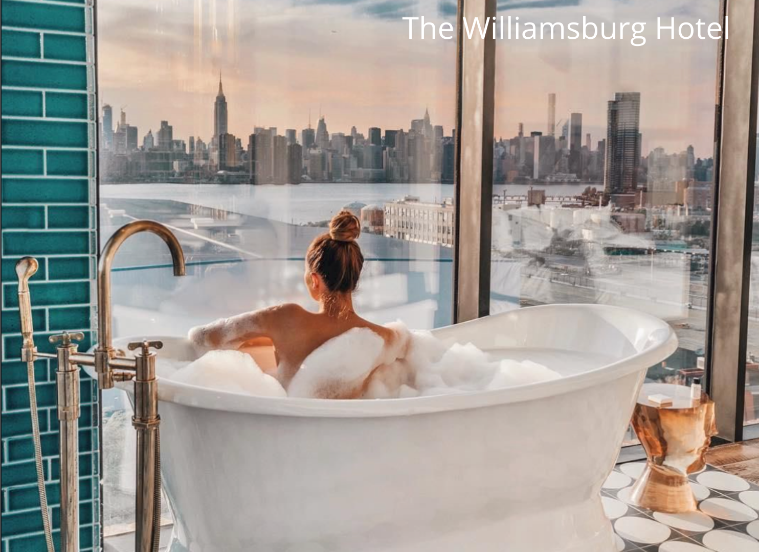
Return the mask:
[[[152, 218], [188, 265], [173, 278], [158, 238], [130, 238], [113, 274], [116, 336], [186, 334], [276, 303], [313, 309], [304, 254], [343, 208], [363, 226], [359, 314], [452, 321], [455, 41], [405, 39], [400, 17], [436, 8], [390, 4], [99, 7], [102, 240]], [[128, 522], [114, 500], [131, 475], [106, 472], [106, 525]]]

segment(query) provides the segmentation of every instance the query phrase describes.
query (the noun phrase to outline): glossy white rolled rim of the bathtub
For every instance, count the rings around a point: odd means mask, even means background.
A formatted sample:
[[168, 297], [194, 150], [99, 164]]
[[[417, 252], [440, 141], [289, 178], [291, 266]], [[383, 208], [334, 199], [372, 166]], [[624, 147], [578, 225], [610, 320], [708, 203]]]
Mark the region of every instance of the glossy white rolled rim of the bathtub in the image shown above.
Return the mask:
[[[553, 309], [568, 310], [581, 308], [583, 310], [617, 311], [634, 313], [636, 316], [646, 318], [652, 326], [659, 326], [666, 330], [666, 337], [658, 343], [642, 350], [634, 355], [620, 359], [596, 369], [581, 372], [580, 374], [568, 375], [564, 378], [550, 381], [540, 381], [533, 384], [523, 384], [502, 389], [466, 391], [449, 395], [432, 395], [429, 397], [409, 397], [399, 399], [307, 399], [298, 397], [256, 397], [248, 394], [235, 393], [233, 391], [215, 390], [207, 387], [187, 384], [183, 382], [159, 378], [159, 400], [191, 406], [193, 408], [218, 410], [222, 412], [240, 412], [269, 416], [307, 416], [326, 418], [368, 418], [386, 416], [415, 416], [433, 412], [449, 410], [476, 409], [487, 406], [496, 406], [507, 403], [521, 403], [528, 400], [539, 400], [553, 397], [559, 394], [572, 393], [587, 387], [593, 387], [606, 381], [622, 378], [625, 375], [641, 370], [641, 365], [646, 367], [661, 362], [674, 353], [678, 346], [675, 331], [665, 321], [645, 312], [628, 309], [625, 307], [609, 305], [589, 305], [583, 303], [565, 303], [562, 305], [540, 305], [525, 307], [525, 309]], [[484, 320], [502, 315], [513, 314], [515, 311], [507, 311], [490, 315], [490, 317], [476, 318], [474, 320], [460, 322], [457, 325], [449, 325], [436, 328], [437, 331], [461, 327], [464, 325], [482, 324]], [[183, 340], [182, 336], [151, 336], [151, 339], [159, 340]], [[115, 343], [124, 343], [128, 340], [143, 340], [144, 336], [119, 337]], [[518, 350], [519, 347], [512, 347]], [[91, 369], [86, 369], [90, 373]], [[92, 375], [90, 373], [90, 375]], [[642, 381], [642, 378], [641, 378]], [[119, 382], [116, 387], [131, 393], [131, 381]]]

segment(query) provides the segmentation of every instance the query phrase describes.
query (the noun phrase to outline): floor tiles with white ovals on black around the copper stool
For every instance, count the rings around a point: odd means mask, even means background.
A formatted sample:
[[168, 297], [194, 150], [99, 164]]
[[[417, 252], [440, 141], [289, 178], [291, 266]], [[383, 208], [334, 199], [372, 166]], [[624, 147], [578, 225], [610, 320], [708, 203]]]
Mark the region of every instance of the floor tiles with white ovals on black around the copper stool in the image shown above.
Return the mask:
[[619, 552], [759, 552], [757, 485], [708, 466], [690, 477], [698, 511], [658, 513], [629, 503], [643, 466], [616, 466], [601, 489]]

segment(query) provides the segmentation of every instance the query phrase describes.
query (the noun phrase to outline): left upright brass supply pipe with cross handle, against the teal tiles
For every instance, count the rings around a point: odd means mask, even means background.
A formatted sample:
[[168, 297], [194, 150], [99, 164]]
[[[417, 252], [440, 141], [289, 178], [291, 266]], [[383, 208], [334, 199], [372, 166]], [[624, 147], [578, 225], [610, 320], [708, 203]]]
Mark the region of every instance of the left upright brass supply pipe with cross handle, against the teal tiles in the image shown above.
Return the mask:
[[57, 347], [58, 443], [61, 453], [61, 551], [79, 552], [79, 365], [71, 362], [84, 334], [68, 331], [49, 337]]

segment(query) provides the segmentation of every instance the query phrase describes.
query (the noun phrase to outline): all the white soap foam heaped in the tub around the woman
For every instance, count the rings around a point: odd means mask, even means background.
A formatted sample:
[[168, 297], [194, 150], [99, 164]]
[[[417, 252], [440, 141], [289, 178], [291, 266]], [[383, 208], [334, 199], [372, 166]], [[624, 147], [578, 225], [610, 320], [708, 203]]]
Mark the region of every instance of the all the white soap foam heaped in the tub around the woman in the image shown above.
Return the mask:
[[429, 331], [387, 325], [386, 340], [369, 328], [352, 328], [323, 343], [304, 360], [285, 391], [246, 353], [212, 350], [194, 362], [160, 357], [162, 378], [266, 397], [394, 399], [456, 394], [561, 378], [546, 366], [493, 359], [473, 343], [446, 343]]

